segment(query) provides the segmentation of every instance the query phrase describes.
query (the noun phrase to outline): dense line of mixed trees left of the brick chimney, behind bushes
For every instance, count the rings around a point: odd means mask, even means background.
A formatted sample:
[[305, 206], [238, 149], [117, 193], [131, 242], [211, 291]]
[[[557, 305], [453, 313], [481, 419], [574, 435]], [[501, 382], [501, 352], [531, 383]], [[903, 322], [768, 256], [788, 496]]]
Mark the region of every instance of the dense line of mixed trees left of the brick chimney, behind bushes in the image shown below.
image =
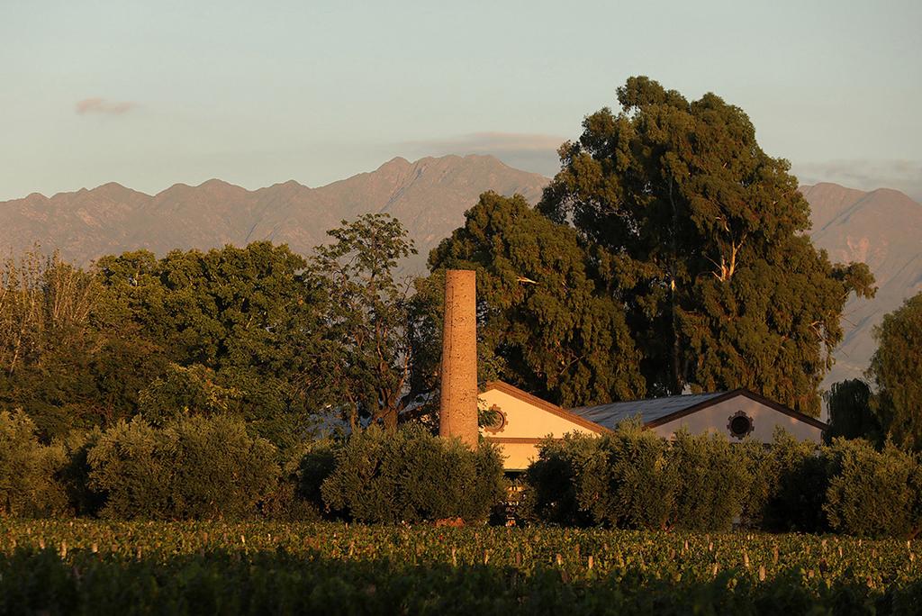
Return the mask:
[[414, 357], [437, 359], [411, 348], [410, 284], [394, 275], [414, 249], [386, 215], [343, 224], [311, 259], [268, 242], [109, 255], [89, 272], [37, 249], [11, 257], [0, 409], [29, 414], [45, 441], [183, 412], [231, 413], [283, 449], [320, 416], [393, 428], [431, 389]]

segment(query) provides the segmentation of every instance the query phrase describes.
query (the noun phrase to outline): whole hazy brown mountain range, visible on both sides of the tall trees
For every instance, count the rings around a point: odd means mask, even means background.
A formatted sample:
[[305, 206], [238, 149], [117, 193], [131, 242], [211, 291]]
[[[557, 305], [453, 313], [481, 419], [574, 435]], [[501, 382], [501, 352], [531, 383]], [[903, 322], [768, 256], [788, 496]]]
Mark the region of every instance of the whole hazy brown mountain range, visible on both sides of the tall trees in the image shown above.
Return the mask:
[[[405, 266], [425, 272], [431, 248], [464, 223], [464, 212], [493, 190], [536, 203], [549, 179], [515, 170], [492, 156], [390, 160], [374, 172], [309, 188], [291, 181], [248, 191], [219, 180], [175, 184], [145, 195], [120, 184], [45, 197], [33, 193], [0, 202], [0, 246], [20, 255], [34, 243], [58, 249], [83, 267], [102, 255], [145, 249], [244, 246], [256, 240], [288, 243], [309, 255], [330, 238], [325, 231], [367, 212], [399, 219], [420, 251]], [[877, 278], [873, 300], [845, 306], [845, 339], [836, 351], [828, 386], [867, 368], [876, 343], [871, 335], [884, 314], [922, 291], [922, 205], [898, 191], [865, 193], [837, 184], [801, 186], [810, 202], [810, 237], [833, 261], [862, 261]]]

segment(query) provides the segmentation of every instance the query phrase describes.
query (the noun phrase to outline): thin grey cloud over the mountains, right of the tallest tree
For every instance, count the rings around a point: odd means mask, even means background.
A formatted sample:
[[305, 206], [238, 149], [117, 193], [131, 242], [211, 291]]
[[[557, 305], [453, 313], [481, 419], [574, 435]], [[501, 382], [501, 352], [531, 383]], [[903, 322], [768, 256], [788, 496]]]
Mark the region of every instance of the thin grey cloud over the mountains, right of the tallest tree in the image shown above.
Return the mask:
[[800, 184], [831, 182], [872, 191], [892, 188], [922, 203], [922, 164], [910, 160], [831, 160], [794, 165]]

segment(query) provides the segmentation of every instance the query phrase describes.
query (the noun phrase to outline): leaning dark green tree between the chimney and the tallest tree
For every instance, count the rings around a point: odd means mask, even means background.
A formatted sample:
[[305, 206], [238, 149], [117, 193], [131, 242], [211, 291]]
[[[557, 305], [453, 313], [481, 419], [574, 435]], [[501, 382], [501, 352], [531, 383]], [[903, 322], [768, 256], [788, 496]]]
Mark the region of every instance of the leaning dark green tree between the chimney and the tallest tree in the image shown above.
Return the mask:
[[430, 284], [444, 269], [477, 271], [479, 336], [499, 376], [564, 407], [643, 397], [621, 302], [577, 233], [521, 195], [484, 193], [466, 218], [432, 251]]

